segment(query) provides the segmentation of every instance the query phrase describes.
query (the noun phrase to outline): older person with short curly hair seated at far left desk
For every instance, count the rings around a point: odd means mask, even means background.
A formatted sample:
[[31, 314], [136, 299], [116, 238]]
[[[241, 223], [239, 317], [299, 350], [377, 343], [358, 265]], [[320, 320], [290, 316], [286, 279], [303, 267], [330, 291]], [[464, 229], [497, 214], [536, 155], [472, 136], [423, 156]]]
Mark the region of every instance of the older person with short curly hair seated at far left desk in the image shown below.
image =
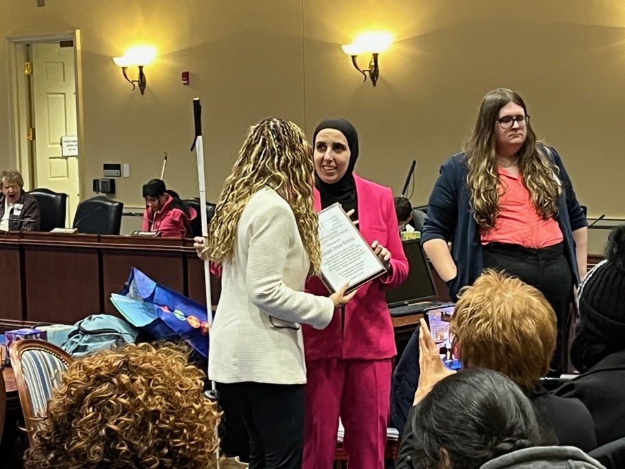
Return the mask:
[[19, 171], [0, 171], [0, 231], [38, 231], [39, 206], [35, 197], [23, 191]]

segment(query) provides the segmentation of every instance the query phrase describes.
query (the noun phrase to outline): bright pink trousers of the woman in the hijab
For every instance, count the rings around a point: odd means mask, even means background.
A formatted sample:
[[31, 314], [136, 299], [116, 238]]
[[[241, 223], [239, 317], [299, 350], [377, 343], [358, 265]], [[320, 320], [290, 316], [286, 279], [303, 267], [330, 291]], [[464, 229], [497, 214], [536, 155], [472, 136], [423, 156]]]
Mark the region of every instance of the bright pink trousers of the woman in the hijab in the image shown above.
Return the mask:
[[307, 361], [303, 469], [332, 469], [339, 416], [350, 468], [383, 469], [393, 359]]

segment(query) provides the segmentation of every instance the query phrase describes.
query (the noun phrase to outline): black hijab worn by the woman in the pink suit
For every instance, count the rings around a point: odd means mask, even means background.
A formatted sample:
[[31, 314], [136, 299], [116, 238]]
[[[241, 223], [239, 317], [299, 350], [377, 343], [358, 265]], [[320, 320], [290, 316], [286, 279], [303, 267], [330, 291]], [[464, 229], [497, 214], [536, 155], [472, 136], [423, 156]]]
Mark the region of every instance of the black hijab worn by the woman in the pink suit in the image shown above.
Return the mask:
[[315, 145], [315, 141], [317, 141], [317, 134], [323, 129], [334, 129], [341, 132], [347, 140], [347, 146], [350, 147], [351, 155], [350, 163], [347, 165], [347, 171], [345, 171], [341, 179], [332, 184], [323, 182], [321, 178], [319, 178], [317, 171], [315, 171], [315, 187], [317, 187], [319, 195], [321, 195], [321, 208], [326, 208], [335, 202], [339, 202], [346, 212], [349, 212], [353, 208], [354, 215], [352, 215], [352, 219], [357, 220], [358, 193], [356, 193], [356, 181], [354, 180], [354, 165], [356, 165], [356, 159], [358, 159], [358, 132], [356, 132], [354, 125], [346, 119], [326, 119], [317, 125], [315, 133], [312, 134], [313, 146]]

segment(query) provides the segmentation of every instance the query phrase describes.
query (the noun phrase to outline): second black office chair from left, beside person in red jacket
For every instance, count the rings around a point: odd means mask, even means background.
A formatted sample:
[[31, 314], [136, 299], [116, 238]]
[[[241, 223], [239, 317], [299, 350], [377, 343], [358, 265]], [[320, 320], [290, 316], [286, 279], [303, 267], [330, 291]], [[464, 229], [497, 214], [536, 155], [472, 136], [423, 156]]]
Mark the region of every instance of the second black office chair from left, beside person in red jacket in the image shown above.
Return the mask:
[[81, 233], [119, 234], [123, 203], [103, 195], [83, 200], [78, 204], [73, 228]]

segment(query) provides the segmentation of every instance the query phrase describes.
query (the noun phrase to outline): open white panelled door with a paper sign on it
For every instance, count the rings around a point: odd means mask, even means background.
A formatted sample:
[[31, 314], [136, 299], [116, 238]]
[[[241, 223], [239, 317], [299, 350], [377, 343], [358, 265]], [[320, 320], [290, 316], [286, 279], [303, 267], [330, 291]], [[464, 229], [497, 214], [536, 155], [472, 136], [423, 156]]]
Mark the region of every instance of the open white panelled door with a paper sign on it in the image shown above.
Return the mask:
[[62, 156], [61, 137], [77, 135], [74, 48], [36, 43], [32, 54], [35, 187], [68, 195], [71, 226], [79, 202], [78, 156]]

